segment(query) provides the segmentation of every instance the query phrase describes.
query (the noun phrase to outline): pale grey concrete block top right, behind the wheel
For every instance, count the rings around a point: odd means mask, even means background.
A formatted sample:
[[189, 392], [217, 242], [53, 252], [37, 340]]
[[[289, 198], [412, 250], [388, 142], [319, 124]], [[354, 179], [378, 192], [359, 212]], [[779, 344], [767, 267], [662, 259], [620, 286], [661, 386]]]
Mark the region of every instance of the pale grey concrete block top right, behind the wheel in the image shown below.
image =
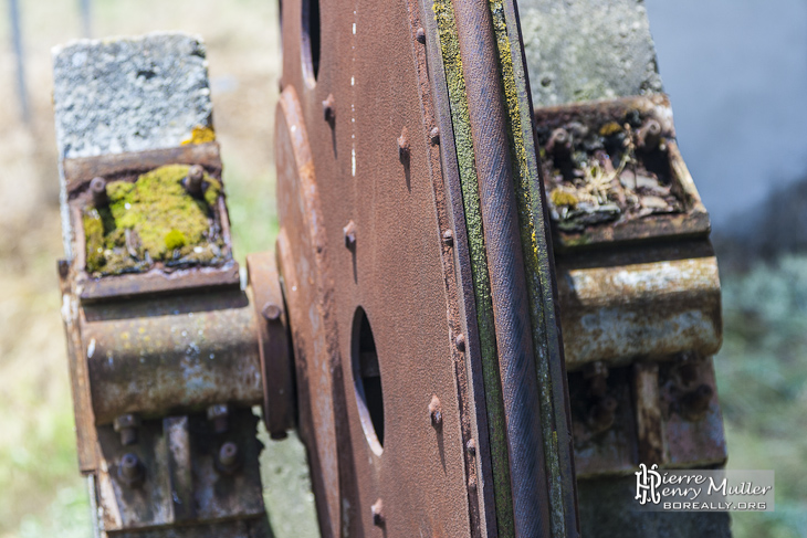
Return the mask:
[[661, 92], [641, 0], [521, 0], [533, 106]]

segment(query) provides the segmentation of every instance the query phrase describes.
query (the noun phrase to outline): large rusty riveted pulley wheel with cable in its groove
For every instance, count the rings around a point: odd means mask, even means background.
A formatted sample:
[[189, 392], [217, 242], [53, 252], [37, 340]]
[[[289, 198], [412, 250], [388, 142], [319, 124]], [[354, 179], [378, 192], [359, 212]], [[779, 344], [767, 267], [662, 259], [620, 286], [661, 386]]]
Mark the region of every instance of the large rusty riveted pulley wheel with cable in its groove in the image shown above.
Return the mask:
[[282, 18], [276, 252], [323, 536], [577, 536], [513, 3]]

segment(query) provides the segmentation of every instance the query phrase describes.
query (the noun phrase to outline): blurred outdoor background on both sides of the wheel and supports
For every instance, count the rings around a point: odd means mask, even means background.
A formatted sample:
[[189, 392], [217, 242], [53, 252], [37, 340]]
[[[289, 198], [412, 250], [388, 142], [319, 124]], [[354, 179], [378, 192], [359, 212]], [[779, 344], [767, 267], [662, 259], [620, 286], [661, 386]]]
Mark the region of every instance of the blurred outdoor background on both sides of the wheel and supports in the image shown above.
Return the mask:
[[[646, 3], [679, 144], [713, 218], [729, 466], [776, 471], [776, 511], [733, 514], [735, 537], [807, 537], [807, 1]], [[85, 35], [203, 36], [243, 262], [276, 231], [276, 1], [2, 0], [0, 9], [0, 538], [88, 537], [59, 314], [50, 50]], [[268, 498], [305, 487], [283, 464], [302, 457], [264, 458]]]

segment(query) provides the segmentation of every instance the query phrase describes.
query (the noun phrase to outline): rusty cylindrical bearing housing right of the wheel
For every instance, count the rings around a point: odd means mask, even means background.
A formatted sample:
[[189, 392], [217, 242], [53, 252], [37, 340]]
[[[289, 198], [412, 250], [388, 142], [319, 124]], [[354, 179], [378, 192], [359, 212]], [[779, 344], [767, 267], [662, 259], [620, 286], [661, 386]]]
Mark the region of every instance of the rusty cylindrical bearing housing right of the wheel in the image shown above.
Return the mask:
[[559, 257], [567, 368], [715, 354], [722, 339], [720, 277], [715, 257], [701, 257], [702, 250], [650, 250], [641, 256], [633, 251], [621, 262], [614, 253], [598, 257], [606, 262], [599, 266], [590, 259]]

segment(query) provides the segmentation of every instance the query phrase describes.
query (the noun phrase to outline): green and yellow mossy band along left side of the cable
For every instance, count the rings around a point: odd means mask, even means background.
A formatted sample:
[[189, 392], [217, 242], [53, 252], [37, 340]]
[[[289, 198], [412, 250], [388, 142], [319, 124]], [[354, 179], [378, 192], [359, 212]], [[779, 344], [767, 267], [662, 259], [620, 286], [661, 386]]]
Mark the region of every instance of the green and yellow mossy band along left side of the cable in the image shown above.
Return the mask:
[[436, 0], [433, 9], [440, 33], [440, 48], [451, 104], [451, 120], [454, 130], [454, 145], [471, 255], [471, 272], [476, 299], [476, 323], [479, 324], [482, 377], [485, 388], [485, 407], [488, 409], [496, 526], [499, 536], [505, 538], [515, 534], [513, 499], [510, 490], [510, 458], [507, 456], [506, 425], [493, 321], [493, 302], [488, 275], [488, 256], [482, 228], [482, 210], [471, 136], [471, 120], [468, 110], [468, 94], [465, 78], [462, 73], [457, 22], [451, 0]]

